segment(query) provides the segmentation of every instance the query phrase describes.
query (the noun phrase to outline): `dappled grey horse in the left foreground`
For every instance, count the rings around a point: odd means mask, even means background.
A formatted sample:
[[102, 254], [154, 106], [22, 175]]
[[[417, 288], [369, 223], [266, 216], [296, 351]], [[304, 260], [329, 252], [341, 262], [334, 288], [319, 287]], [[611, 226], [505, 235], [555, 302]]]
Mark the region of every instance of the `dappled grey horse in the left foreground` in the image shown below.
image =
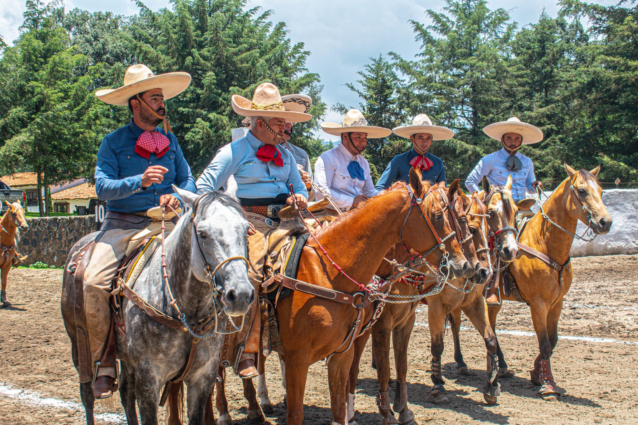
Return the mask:
[[[163, 313], [165, 322], [181, 321], [184, 326], [175, 329], [160, 324], [134, 304], [135, 301], [124, 298], [121, 306], [124, 335], [116, 333], [116, 347], [117, 357], [122, 360], [119, 389], [129, 424], [138, 423], [136, 401], [142, 424], [158, 423], [160, 391], [188, 367], [185, 366], [187, 360], [191, 363], [184, 379], [188, 385], [188, 423], [204, 424], [205, 407], [214, 387], [223, 343], [223, 335], [216, 330], [226, 329], [226, 315], [244, 315], [255, 300], [244, 264], [248, 222], [237, 200], [222, 192], [196, 196], [173, 188], [193, 213], [184, 215], [177, 222], [164, 243], [163, 252], [158, 249], [149, 259], [137, 278], [135, 292], [138, 298], [152, 305], [155, 312]], [[82, 238], [71, 253], [87, 245], [95, 236], [93, 233]], [[167, 259], [165, 278], [163, 254]], [[64, 268], [62, 315], [77, 368], [75, 284], [73, 275], [67, 273], [68, 266]], [[198, 337], [192, 331], [199, 329], [193, 324], [200, 321], [219, 323], [208, 335], [197, 332]], [[211, 328], [212, 325], [204, 326], [204, 329]], [[197, 354], [191, 358], [191, 350], [195, 347], [198, 347]], [[87, 424], [92, 425], [91, 382], [80, 383], [80, 395]]]

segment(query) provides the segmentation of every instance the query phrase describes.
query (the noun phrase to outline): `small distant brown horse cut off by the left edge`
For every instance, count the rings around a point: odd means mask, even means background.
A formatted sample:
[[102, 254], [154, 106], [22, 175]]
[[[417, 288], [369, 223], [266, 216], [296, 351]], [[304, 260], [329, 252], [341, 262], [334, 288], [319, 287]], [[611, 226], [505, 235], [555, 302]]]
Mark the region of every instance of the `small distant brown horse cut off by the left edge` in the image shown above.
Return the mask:
[[0, 248], [2, 253], [0, 254], [0, 277], [2, 278], [2, 291], [0, 292], [0, 304], [3, 307], [11, 305], [6, 299], [6, 278], [11, 270], [11, 264], [13, 264], [13, 257], [15, 256], [15, 244], [17, 243], [17, 236], [19, 230], [26, 231], [29, 229], [27, 220], [24, 219], [24, 210], [20, 201], [16, 201], [12, 204], [8, 203], [8, 210], [0, 219]]

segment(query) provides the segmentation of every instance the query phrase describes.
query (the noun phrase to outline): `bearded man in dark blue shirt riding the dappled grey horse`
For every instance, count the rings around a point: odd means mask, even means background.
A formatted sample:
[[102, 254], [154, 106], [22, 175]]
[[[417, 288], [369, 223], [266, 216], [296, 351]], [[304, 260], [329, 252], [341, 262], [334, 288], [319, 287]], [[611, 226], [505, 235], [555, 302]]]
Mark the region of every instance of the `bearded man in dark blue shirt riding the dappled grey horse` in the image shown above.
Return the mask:
[[[96, 398], [110, 396], [117, 378], [115, 358], [108, 350], [105, 353], [104, 347], [112, 332], [110, 285], [129, 243], [151, 225], [152, 218], [147, 215], [151, 208], [164, 207], [174, 215], [180, 202], [172, 184], [196, 191], [191, 169], [170, 132], [164, 104], [186, 90], [190, 82], [188, 73], [154, 75], [147, 66], [137, 64], [126, 70], [122, 87], [95, 93], [101, 101], [128, 106], [133, 113], [126, 126], [105, 136], [95, 168], [95, 191], [98, 198], [107, 201], [99, 240], [84, 271], [84, 313]], [[163, 129], [158, 127], [161, 122]], [[172, 223], [167, 224], [168, 230], [172, 227]]]

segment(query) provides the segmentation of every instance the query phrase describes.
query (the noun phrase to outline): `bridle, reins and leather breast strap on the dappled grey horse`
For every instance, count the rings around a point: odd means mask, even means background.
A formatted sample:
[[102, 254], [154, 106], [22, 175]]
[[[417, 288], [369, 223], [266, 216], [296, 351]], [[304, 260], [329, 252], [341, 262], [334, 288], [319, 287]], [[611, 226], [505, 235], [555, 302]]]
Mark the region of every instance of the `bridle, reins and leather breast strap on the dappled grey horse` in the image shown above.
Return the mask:
[[[217, 266], [211, 271], [211, 266], [208, 263], [206, 256], [204, 255], [204, 250], [202, 249], [202, 245], [200, 243], [200, 238], [197, 234], [197, 226], [195, 226], [195, 217], [197, 215], [197, 209], [198, 206], [200, 204], [200, 201], [202, 200], [202, 198], [205, 196], [206, 194], [201, 194], [197, 197], [197, 199], [195, 199], [195, 203], [193, 203], [193, 210], [191, 212], [191, 216], [189, 217], [189, 220], [193, 226], [193, 232], [195, 233], [195, 241], [197, 241], [197, 249], [200, 253], [200, 256], [202, 257], [202, 261], [204, 262], [204, 269], [206, 271], [206, 276], [208, 278], [207, 284], [209, 285], [209, 288], [211, 289], [211, 299], [212, 299], [212, 313], [210, 313], [209, 315], [207, 315], [204, 319], [202, 319], [202, 321], [200, 322], [209, 322], [209, 319], [211, 319], [211, 316], [213, 316], [214, 321], [215, 321], [215, 326], [212, 330], [211, 333], [208, 333], [206, 335], [197, 335], [197, 333], [195, 333], [193, 331], [193, 329], [191, 329], [191, 326], [189, 326], [188, 321], [186, 321], [186, 315], [184, 313], [182, 313], [179, 310], [179, 306], [177, 305], [177, 299], [175, 299], [175, 297], [173, 296], [173, 292], [172, 289], [170, 287], [170, 284], [168, 284], [168, 273], [167, 273], [167, 264], [166, 264], [166, 252], [164, 249], [164, 241], [165, 241], [165, 237], [164, 237], [164, 230], [165, 230], [165, 226], [164, 226], [164, 219], [165, 219], [165, 212], [162, 211], [162, 217], [161, 217], [161, 236], [162, 236], [162, 241], [161, 241], [161, 267], [162, 267], [162, 278], [165, 280], [166, 282], [166, 286], [168, 289], [168, 296], [170, 298], [170, 305], [175, 309], [175, 311], [177, 312], [177, 317], [179, 318], [179, 320], [184, 324], [184, 329], [188, 329], [189, 333], [191, 334], [191, 336], [193, 336], [193, 338], [210, 338], [211, 336], [214, 335], [227, 335], [230, 333], [235, 333], [235, 332], [239, 332], [241, 331], [241, 329], [244, 328], [244, 321], [246, 319], [246, 315], [242, 316], [242, 322], [241, 322], [241, 326], [239, 328], [237, 328], [237, 325], [235, 325], [235, 322], [228, 317], [228, 322], [230, 322], [230, 324], [232, 324], [232, 326], [234, 326], [235, 329], [232, 329], [231, 331], [228, 332], [223, 332], [223, 331], [219, 331], [218, 329], [218, 315], [219, 313], [223, 312], [226, 314], [226, 311], [224, 310], [223, 306], [218, 305], [216, 298], [218, 298], [221, 295], [221, 289], [223, 289], [223, 287], [221, 287], [221, 285], [217, 285], [216, 280], [215, 280], [215, 273], [217, 273], [217, 271], [219, 270], [219, 268], [221, 268], [221, 266], [223, 266], [224, 264], [228, 263], [229, 261], [233, 261], [233, 260], [242, 260], [244, 261], [244, 263], [246, 263], [246, 270], [248, 270], [249, 267], [249, 263], [248, 263], [248, 259], [246, 259], [246, 257], [244, 256], [233, 256], [233, 257], [228, 257], [222, 261], [219, 262], [219, 264], [217, 264]], [[227, 314], [226, 314], [227, 315]]]

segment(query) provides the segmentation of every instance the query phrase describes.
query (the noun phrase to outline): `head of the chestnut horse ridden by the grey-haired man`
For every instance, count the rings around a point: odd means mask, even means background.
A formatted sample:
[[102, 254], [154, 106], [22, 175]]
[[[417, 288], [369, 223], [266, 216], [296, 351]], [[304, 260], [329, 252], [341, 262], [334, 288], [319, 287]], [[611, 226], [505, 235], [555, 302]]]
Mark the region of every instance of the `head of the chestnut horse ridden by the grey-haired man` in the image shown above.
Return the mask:
[[447, 256], [452, 275], [455, 278], [463, 277], [470, 268], [470, 263], [463, 255], [461, 245], [453, 237], [454, 229], [441, 207], [444, 203], [441, 193], [432, 191], [430, 185], [421, 180], [421, 171], [416, 168], [410, 170], [409, 187], [414, 194], [410, 202], [415, 202], [412, 207], [419, 208], [419, 213], [409, 215], [404, 223], [406, 243], [421, 254], [442, 244], [445, 250], [434, 249], [432, 256], [439, 264], [443, 256]]

